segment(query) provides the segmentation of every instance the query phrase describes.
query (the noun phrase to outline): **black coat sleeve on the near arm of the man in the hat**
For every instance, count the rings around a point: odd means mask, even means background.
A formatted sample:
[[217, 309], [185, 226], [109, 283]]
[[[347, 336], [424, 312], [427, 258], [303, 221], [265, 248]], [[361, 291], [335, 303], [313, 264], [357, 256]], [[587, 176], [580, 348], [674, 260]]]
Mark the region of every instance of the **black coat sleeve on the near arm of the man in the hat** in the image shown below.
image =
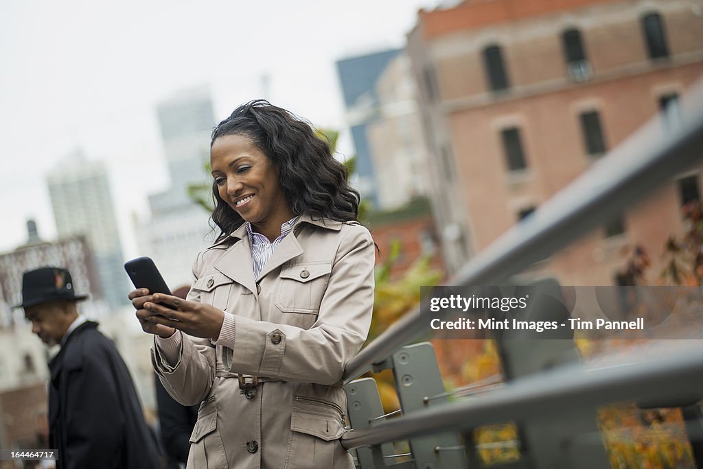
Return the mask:
[[[65, 455], [67, 469], [110, 468], [122, 457], [125, 414], [120, 383], [103, 347], [82, 354], [79, 367], [69, 365], [65, 392]], [[73, 369], [71, 369], [73, 368]]]

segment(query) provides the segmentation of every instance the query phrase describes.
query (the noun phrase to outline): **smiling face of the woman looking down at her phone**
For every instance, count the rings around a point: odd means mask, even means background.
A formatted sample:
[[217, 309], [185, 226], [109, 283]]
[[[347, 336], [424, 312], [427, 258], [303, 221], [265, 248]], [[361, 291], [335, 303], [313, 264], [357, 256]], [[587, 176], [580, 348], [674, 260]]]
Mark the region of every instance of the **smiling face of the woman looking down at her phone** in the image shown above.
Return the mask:
[[217, 138], [210, 149], [210, 166], [221, 199], [259, 232], [267, 227], [280, 231], [293, 217], [278, 168], [246, 136]]

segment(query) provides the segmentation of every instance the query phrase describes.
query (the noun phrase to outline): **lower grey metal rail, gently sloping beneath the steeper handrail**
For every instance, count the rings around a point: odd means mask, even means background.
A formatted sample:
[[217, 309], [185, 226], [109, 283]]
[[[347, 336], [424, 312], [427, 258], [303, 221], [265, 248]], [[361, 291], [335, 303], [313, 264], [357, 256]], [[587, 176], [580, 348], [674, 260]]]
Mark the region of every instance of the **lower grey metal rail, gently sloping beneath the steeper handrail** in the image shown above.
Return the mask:
[[512, 381], [507, 387], [460, 402], [437, 404], [342, 435], [342, 446], [406, 440], [436, 432], [462, 432], [480, 425], [525, 420], [588, 408], [607, 402], [676, 399], [703, 392], [703, 345], [690, 341], [683, 352], [647, 362], [588, 371], [583, 364]]

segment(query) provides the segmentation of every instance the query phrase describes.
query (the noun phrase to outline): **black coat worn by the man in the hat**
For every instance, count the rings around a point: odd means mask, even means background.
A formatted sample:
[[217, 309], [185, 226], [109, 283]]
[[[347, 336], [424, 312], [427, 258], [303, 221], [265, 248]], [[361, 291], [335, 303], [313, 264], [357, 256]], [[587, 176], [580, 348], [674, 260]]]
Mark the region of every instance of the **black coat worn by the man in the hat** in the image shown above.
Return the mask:
[[160, 468], [127, 366], [97, 326], [78, 326], [49, 364], [49, 444], [58, 451], [57, 469]]

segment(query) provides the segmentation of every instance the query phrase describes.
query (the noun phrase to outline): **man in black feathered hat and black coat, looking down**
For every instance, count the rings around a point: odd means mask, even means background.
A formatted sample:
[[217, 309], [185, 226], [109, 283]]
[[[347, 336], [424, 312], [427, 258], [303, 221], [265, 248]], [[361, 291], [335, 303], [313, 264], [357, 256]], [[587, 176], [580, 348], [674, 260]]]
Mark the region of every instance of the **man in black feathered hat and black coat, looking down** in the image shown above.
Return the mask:
[[49, 363], [49, 448], [56, 468], [160, 468], [134, 384], [115, 344], [79, 315], [71, 275], [41, 267], [22, 277], [32, 332], [61, 349]]

